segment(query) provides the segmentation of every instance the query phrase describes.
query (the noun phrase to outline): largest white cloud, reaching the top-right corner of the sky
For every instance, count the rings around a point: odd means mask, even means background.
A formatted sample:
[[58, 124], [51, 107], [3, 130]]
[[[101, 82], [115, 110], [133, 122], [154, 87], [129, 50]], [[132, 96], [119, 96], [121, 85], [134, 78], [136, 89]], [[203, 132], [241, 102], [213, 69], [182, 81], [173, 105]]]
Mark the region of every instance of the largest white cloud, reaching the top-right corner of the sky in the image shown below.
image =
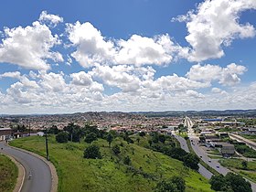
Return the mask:
[[256, 9], [254, 0], [206, 0], [187, 16], [173, 19], [187, 23], [186, 39], [192, 47], [187, 59], [219, 59], [224, 55], [223, 46], [234, 39], [254, 37], [251, 24], [240, 24], [240, 13], [249, 9]]

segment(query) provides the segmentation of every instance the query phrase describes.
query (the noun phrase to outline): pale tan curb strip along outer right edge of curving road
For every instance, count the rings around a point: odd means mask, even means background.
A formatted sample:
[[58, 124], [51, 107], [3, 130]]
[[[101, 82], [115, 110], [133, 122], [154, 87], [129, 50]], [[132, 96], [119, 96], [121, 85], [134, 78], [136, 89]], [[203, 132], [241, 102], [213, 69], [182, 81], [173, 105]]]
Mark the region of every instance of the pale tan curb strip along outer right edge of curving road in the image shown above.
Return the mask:
[[11, 147], [11, 148], [14, 148], [16, 150], [22, 151], [24, 153], [27, 153], [29, 155], [33, 155], [33, 156], [37, 157], [38, 159], [40, 159], [41, 161], [43, 161], [45, 164], [47, 164], [49, 169], [50, 169], [50, 175], [51, 175], [51, 190], [50, 190], [50, 192], [57, 192], [58, 191], [59, 177], [57, 175], [57, 171], [56, 171], [55, 166], [50, 161], [48, 161], [45, 157], [43, 157], [41, 155], [37, 155], [37, 154], [35, 154], [33, 152], [30, 152], [30, 151], [27, 151], [25, 149], [21, 149], [21, 148], [15, 147], [15, 146], [11, 146], [9, 144], [8, 144], [8, 146]]

